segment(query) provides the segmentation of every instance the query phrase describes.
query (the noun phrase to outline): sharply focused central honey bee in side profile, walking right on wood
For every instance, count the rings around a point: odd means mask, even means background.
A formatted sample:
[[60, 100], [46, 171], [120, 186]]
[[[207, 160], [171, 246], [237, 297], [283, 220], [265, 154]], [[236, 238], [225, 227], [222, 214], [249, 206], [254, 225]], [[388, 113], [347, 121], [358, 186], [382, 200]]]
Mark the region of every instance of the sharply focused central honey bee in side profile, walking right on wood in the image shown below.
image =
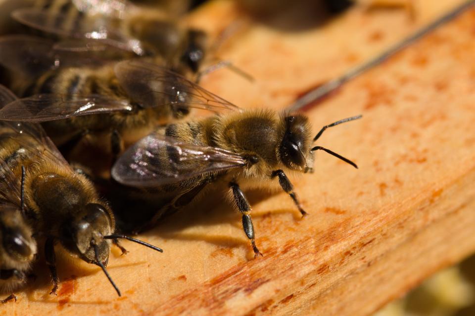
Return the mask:
[[[176, 77], [176, 87], [193, 83]], [[194, 91], [202, 88], [194, 86]], [[188, 90], [190, 91], [190, 89]], [[190, 92], [188, 92], [190, 93]], [[231, 110], [231, 108], [229, 108]], [[312, 172], [313, 153], [323, 150], [355, 168], [357, 165], [331, 150], [312, 146], [329, 127], [361, 118], [345, 118], [324, 126], [312, 138], [308, 118], [270, 110], [240, 111], [195, 121], [171, 123], [142, 138], [118, 158], [112, 178], [155, 196], [158, 211], [145, 226], [179, 210], [211, 184], [226, 183], [242, 214], [242, 226], [255, 256], [261, 255], [254, 239], [251, 207], [241, 189], [268, 186], [277, 178], [302, 216], [301, 206], [286, 172]], [[132, 190], [132, 189], [131, 189]]]

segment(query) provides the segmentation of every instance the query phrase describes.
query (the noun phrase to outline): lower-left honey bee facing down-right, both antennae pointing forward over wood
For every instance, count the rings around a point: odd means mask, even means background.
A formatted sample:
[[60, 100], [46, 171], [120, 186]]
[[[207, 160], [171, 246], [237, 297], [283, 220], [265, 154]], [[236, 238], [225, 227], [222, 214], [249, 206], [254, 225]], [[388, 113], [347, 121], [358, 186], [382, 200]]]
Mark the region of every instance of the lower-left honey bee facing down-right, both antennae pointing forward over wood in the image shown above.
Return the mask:
[[[11, 96], [11, 92], [0, 86], [0, 95]], [[57, 242], [72, 256], [99, 266], [119, 296], [119, 289], [105, 269], [112, 240], [116, 243], [118, 238], [126, 238], [162, 251], [138, 239], [115, 234], [115, 218], [108, 204], [84, 175], [73, 171], [41, 125], [1, 121], [0, 144], [0, 192], [10, 203], [18, 205], [24, 200], [32, 227], [46, 239], [45, 258], [53, 281], [52, 294], [59, 283], [54, 252]], [[15, 188], [22, 188], [24, 199]]]

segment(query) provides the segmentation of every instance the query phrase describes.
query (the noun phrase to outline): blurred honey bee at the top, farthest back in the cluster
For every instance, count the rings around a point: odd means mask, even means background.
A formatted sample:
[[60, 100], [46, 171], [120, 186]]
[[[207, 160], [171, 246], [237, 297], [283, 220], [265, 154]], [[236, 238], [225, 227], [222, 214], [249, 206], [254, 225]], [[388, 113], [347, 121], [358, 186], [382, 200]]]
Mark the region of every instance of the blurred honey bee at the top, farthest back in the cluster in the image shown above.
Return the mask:
[[193, 72], [205, 57], [204, 32], [171, 19], [166, 11], [126, 0], [34, 0], [32, 7], [16, 9], [12, 17], [46, 34], [86, 39], [102, 50], [106, 45], [137, 56], [158, 55]]

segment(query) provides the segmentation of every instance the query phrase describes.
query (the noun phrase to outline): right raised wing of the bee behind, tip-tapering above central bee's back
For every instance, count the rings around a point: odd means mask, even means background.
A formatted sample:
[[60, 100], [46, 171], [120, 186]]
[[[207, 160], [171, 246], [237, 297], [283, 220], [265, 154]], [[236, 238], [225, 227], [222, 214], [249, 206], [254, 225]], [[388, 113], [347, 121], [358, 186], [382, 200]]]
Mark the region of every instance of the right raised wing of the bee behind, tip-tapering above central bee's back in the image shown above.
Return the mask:
[[115, 74], [128, 95], [143, 107], [172, 105], [216, 113], [240, 111], [231, 102], [157, 63], [122, 61], [115, 66]]

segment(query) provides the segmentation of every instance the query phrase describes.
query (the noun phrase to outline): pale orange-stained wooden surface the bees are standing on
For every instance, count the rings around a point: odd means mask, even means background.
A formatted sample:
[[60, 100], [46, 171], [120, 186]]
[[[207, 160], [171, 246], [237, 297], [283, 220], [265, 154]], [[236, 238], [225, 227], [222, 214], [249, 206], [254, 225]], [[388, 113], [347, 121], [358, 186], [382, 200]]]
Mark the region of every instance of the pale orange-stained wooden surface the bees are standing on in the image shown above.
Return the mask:
[[[454, 5], [436, 1], [438, 9], [424, 11], [425, 2], [434, 1], [419, 2], [426, 21]], [[226, 1], [213, 5], [195, 23], [233, 12]], [[113, 250], [108, 270], [123, 297], [97, 268], [60, 253], [58, 297], [48, 295], [39, 264], [38, 278], [16, 293], [17, 303], [0, 306], [0, 315], [368, 315], [473, 252], [474, 17], [475, 10], [465, 13], [308, 111], [315, 132], [364, 115], [319, 141], [360, 169], [319, 153], [315, 174], [292, 176], [310, 213], [303, 220], [284, 193], [249, 192], [264, 257], [253, 260], [240, 216], [216, 192], [141, 236], [163, 254], [126, 242], [126, 256]], [[346, 28], [339, 37], [337, 23]], [[242, 107], [282, 108], [420, 23], [405, 11], [355, 9], [298, 34], [252, 24], [223, 55], [256, 82], [220, 72], [204, 84]], [[384, 34], [376, 42], [369, 40], [375, 29]]]

